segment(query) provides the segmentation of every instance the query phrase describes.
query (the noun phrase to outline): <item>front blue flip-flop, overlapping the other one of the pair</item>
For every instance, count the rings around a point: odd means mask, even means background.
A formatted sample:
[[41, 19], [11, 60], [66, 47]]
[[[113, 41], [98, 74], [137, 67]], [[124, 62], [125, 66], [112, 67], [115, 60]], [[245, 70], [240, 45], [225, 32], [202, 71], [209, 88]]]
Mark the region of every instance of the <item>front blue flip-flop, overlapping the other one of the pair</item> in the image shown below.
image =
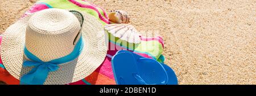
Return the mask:
[[113, 56], [112, 67], [118, 85], [166, 85], [169, 81], [162, 64], [126, 50]]

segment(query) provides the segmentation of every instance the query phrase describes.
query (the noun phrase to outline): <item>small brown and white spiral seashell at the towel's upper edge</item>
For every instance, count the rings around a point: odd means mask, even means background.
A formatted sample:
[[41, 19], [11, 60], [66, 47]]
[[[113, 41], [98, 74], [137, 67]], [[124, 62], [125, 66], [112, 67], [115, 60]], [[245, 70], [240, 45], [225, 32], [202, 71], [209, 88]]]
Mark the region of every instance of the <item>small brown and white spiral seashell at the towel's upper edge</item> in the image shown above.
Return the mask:
[[130, 23], [130, 18], [125, 11], [114, 10], [109, 14], [109, 20], [115, 24], [127, 24]]

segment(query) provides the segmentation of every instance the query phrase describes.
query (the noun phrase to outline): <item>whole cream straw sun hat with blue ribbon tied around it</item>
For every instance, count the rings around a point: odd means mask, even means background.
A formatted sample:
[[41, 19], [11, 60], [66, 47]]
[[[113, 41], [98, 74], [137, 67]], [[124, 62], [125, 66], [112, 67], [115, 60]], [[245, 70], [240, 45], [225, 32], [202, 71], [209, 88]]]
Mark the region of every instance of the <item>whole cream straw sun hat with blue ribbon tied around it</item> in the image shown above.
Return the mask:
[[89, 14], [49, 8], [6, 29], [1, 58], [20, 83], [68, 84], [90, 75], [104, 61], [106, 36]]

